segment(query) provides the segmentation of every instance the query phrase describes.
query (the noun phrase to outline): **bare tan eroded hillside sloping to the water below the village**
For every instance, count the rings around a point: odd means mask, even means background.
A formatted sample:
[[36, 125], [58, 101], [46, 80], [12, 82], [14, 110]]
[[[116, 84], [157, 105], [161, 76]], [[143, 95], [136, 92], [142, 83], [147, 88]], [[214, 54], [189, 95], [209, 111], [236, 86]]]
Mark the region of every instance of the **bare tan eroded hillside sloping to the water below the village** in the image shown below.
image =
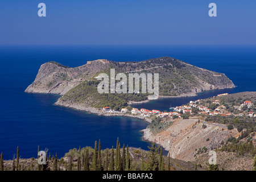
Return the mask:
[[[236, 129], [228, 130], [221, 125], [197, 121], [198, 119], [176, 119], [167, 130], [155, 135], [147, 128], [142, 130], [143, 139], [160, 144], [170, 152], [171, 158], [193, 161], [199, 148], [212, 150], [238, 133]], [[203, 129], [203, 125], [207, 127]]]

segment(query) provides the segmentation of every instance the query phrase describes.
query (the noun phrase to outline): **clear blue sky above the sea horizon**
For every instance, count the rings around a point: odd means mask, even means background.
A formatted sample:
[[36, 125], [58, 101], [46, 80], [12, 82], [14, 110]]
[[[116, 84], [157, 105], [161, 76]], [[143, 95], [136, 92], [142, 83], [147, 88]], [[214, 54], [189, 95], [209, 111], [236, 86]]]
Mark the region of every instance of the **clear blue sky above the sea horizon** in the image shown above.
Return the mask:
[[256, 44], [255, 32], [255, 0], [0, 1], [0, 44], [239, 45]]

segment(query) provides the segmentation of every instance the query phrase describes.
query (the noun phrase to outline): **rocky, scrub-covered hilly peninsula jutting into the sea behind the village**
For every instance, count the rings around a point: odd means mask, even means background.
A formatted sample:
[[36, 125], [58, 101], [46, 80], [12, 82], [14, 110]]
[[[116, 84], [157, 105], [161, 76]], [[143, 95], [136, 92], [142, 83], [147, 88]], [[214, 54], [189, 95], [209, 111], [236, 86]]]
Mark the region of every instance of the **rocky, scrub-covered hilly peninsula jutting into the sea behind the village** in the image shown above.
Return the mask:
[[109, 106], [111, 109], [115, 107], [115, 110], [127, 106], [129, 101], [147, 100], [148, 94], [142, 93], [99, 94], [96, 77], [100, 73], [110, 75], [111, 68], [115, 69], [115, 74], [159, 73], [160, 96], [195, 96], [204, 90], [234, 88], [233, 82], [224, 73], [198, 68], [171, 57], [160, 57], [139, 62], [95, 60], [76, 68], [51, 61], [40, 67], [35, 81], [26, 92], [61, 94], [60, 105]]

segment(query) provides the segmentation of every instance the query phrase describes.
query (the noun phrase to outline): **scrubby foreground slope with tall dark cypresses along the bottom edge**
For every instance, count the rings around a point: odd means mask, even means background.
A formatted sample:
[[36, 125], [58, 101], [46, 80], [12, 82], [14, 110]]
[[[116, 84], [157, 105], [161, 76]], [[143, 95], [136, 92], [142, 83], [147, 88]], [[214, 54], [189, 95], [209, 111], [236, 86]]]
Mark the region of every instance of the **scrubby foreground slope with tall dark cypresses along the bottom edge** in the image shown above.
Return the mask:
[[112, 146], [102, 150], [99, 140], [95, 141], [94, 148], [73, 148], [62, 158], [57, 153], [51, 155], [47, 150], [46, 164], [39, 164], [38, 159], [19, 159], [17, 148], [13, 161], [3, 160], [1, 154], [0, 171], [170, 171], [183, 166], [189, 170], [193, 167], [193, 164], [164, 156], [162, 148], [156, 147], [154, 143], [145, 151], [125, 144], [121, 148], [118, 139], [115, 148]]

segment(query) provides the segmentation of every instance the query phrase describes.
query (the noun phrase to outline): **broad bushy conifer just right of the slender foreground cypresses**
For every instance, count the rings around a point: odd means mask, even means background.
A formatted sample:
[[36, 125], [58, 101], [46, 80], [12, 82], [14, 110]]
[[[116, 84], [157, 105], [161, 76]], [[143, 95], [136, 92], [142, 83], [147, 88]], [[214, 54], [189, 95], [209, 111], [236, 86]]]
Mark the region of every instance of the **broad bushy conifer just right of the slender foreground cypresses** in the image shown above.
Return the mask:
[[152, 143], [151, 147], [148, 147], [148, 149], [150, 149], [148, 169], [150, 171], [158, 171], [159, 170], [158, 155], [159, 155], [160, 147], [156, 148], [155, 143]]

